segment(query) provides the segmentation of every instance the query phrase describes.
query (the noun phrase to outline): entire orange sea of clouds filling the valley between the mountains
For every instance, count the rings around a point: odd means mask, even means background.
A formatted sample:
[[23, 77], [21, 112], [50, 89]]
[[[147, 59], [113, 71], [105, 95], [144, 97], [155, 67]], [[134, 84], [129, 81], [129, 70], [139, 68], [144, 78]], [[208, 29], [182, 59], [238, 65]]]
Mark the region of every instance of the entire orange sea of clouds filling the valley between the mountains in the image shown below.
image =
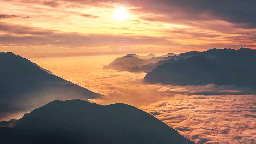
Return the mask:
[[[103, 70], [109, 56], [58, 57], [55, 75], [136, 106], [198, 144], [255, 143], [255, 89], [237, 86], [170, 86], [143, 83], [145, 73]], [[61, 63], [62, 62], [62, 63]], [[91, 102], [108, 104], [102, 99]]]

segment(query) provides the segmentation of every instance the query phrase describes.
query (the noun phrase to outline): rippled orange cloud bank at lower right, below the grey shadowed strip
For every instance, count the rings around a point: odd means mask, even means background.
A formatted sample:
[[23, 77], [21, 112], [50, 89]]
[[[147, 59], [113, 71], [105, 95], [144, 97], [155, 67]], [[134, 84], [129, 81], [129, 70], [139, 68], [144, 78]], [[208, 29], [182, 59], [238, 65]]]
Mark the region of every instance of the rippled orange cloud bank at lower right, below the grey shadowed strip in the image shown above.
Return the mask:
[[[180, 96], [176, 96], [179, 98]], [[178, 130], [196, 143], [248, 143], [255, 135], [255, 95], [215, 95], [206, 99], [173, 99], [159, 106], [159, 102], [141, 106], [144, 111], [159, 111], [156, 118]], [[217, 99], [216, 99], [217, 98]], [[246, 114], [245, 114], [246, 113]], [[244, 133], [247, 136], [240, 136]]]

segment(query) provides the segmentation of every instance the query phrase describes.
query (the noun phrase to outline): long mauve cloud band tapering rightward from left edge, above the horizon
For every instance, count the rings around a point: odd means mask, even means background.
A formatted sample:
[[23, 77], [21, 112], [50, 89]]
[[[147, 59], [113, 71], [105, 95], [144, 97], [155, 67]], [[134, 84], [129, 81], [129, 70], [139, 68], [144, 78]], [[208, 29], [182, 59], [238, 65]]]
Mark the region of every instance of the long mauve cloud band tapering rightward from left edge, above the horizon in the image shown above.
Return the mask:
[[[56, 30], [31, 28], [19, 25], [0, 24], [0, 31], [5, 33], [0, 36], [3, 40], [3, 46], [47, 46], [63, 48], [93, 48], [105, 47], [110, 42], [112, 45], [120, 45], [120, 41], [137, 41], [139, 45], [153, 45], [161, 40], [161, 43], [170, 45], [171, 41], [162, 38], [148, 36], [124, 36], [124, 35], [107, 35], [107, 34], [82, 34], [75, 32], [60, 32]], [[114, 39], [114, 41], [113, 41]], [[14, 43], [15, 41], [15, 43]], [[150, 42], [149, 42], [150, 41]], [[120, 46], [127, 46], [126, 44]]]

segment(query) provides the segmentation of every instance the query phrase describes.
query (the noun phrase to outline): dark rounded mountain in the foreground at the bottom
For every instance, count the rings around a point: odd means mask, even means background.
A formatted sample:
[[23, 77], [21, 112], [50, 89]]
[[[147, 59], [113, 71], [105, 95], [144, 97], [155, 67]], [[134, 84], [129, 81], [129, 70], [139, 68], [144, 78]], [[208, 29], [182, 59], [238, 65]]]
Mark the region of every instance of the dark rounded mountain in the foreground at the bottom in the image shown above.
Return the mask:
[[122, 103], [98, 105], [77, 99], [55, 100], [25, 114], [13, 128], [62, 136], [83, 144], [193, 144], [153, 115]]

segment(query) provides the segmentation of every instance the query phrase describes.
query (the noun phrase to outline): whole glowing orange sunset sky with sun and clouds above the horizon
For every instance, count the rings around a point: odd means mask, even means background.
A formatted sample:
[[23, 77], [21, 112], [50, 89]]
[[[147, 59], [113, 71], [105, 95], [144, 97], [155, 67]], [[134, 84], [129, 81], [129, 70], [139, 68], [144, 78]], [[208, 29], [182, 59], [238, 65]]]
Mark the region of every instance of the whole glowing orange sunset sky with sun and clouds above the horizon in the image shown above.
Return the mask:
[[1, 0], [0, 51], [26, 56], [256, 48], [254, 0]]

